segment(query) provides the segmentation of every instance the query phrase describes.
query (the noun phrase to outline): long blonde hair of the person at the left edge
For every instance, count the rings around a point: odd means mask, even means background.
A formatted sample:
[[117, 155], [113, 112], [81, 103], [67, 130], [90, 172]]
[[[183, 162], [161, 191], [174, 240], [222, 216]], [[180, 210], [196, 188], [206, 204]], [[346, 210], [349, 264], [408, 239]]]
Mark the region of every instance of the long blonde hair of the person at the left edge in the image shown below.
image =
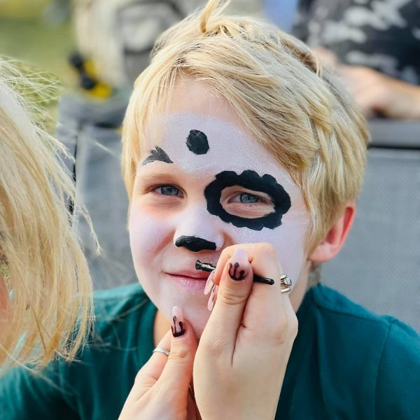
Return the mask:
[[22, 77], [15, 62], [0, 57], [0, 288], [6, 282], [10, 315], [0, 310], [1, 371], [73, 358], [92, 321], [76, 208], [66, 210], [75, 189], [60, 156], [69, 156], [36, 125], [38, 104], [25, 101], [47, 100], [49, 92], [41, 74]]

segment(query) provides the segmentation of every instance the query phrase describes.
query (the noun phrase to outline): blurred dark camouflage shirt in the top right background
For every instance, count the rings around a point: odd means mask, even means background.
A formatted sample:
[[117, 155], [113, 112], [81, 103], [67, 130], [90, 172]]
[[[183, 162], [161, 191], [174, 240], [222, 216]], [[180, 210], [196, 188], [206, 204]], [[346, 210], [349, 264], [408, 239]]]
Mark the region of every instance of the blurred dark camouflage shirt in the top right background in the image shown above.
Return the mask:
[[420, 85], [420, 0], [300, 0], [295, 36]]

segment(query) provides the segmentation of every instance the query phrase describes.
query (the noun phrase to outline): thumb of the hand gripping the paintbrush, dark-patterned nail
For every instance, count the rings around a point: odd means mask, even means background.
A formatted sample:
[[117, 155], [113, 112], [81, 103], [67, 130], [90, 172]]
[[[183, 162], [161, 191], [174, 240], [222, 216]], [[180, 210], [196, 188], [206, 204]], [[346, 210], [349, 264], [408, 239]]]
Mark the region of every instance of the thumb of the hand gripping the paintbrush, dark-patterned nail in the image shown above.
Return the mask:
[[[237, 248], [223, 268], [219, 285], [213, 286], [211, 295], [214, 296], [217, 290], [217, 301], [203, 335], [217, 337], [226, 350], [235, 349], [237, 331], [252, 285], [253, 270], [248, 255], [244, 249]], [[209, 309], [211, 306], [209, 302]]]

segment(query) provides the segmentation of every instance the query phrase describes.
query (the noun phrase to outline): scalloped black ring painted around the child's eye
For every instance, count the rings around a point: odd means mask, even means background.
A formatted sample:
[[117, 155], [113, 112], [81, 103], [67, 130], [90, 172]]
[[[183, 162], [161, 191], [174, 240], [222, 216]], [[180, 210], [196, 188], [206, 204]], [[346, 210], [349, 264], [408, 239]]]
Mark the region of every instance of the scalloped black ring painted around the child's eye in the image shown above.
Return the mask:
[[[245, 218], [228, 213], [221, 204], [222, 191], [232, 186], [241, 186], [248, 190], [268, 194], [273, 201], [274, 211], [258, 218]], [[209, 213], [220, 217], [226, 223], [232, 223], [237, 228], [261, 230], [274, 229], [281, 225], [281, 217], [290, 209], [290, 196], [277, 183], [274, 176], [265, 174], [259, 176], [254, 171], [244, 171], [240, 175], [233, 171], [224, 171], [216, 175], [216, 179], [209, 183], [204, 190]]]

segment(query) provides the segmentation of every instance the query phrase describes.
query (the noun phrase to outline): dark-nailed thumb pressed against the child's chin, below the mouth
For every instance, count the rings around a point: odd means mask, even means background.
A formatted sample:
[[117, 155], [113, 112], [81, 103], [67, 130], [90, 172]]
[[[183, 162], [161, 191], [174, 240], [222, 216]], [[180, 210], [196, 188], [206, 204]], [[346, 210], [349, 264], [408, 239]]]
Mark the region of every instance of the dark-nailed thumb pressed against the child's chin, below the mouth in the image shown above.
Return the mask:
[[[193, 377], [193, 363], [197, 351], [197, 338], [181, 307], [172, 309], [171, 350], [167, 363], [157, 381], [162, 391], [185, 396]], [[174, 393], [174, 390], [178, 392]]]

